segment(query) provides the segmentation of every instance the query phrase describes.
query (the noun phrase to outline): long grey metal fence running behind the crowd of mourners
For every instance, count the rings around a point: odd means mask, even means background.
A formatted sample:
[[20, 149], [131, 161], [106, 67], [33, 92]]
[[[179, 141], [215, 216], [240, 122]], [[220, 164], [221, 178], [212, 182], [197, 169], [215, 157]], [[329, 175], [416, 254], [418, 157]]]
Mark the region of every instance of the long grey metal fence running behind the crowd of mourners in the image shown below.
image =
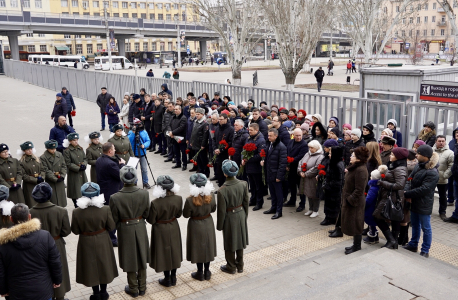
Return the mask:
[[403, 145], [406, 147], [412, 145], [426, 121], [433, 121], [437, 133], [447, 136], [458, 127], [458, 106], [456, 105], [405, 103], [202, 81], [136, 77], [13, 60], [5, 60], [5, 74], [54, 91], [61, 91], [65, 86], [73, 96], [92, 102], [96, 101], [100, 88], [106, 87], [119, 105], [122, 105], [121, 100], [126, 92], [138, 92], [140, 88], [145, 88], [148, 93], [158, 93], [161, 91], [161, 85], [166, 83], [174, 99], [186, 98], [188, 92], [193, 92], [196, 96], [205, 92], [210, 98], [215, 92], [219, 92], [221, 97], [230, 96], [236, 104], [253, 99], [257, 105], [265, 101], [268, 107], [277, 104], [279, 107], [304, 109], [308, 114], [320, 114], [324, 123], [332, 116], [339, 118], [340, 125], [348, 123], [354, 128], [372, 123], [375, 136], [380, 136], [387, 120], [395, 119], [398, 122], [398, 130], [403, 133]]

